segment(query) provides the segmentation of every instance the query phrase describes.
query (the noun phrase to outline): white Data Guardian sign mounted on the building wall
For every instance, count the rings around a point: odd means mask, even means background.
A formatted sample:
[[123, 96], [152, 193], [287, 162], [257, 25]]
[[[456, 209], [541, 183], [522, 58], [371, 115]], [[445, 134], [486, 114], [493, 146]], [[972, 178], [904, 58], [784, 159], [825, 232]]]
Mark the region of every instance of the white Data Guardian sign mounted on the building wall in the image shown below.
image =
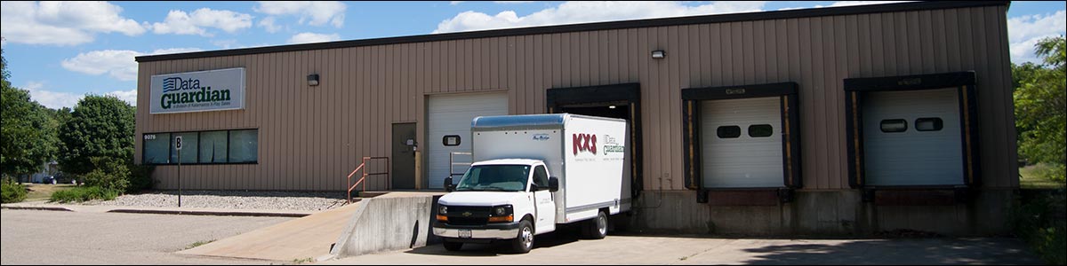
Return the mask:
[[244, 68], [152, 76], [152, 114], [244, 109]]

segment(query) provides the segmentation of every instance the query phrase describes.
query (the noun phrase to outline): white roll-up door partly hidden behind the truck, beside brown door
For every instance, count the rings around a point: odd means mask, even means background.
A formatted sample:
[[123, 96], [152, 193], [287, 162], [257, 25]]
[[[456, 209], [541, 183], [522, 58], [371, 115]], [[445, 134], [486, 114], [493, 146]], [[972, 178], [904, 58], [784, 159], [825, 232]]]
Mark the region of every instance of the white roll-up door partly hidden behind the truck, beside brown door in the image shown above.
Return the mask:
[[[495, 116], [508, 114], [508, 94], [459, 94], [430, 96], [427, 105], [427, 137], [426, 157], [429, 160], [429, 178], [431, 188], [442, 188], [445, 177], [448, 177], [448, 154], [471, 151], [471, 120], [478, 116]], [[458, 135], [458, 146], [445, 146], [444, 136]], [[469, 162], [469, 156], [457, 157]], [[459, 166], [457, 172], [466, 170]], [[458, 182], [458, 177], [456, 182]]]

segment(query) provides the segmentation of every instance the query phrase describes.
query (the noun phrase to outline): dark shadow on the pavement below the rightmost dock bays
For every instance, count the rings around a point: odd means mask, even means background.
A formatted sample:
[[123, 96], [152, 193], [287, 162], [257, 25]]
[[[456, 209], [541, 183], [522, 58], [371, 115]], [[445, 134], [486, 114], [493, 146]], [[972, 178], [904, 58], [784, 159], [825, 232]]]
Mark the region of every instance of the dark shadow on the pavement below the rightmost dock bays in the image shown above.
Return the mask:
[[1014, 238], [869, 239], [744, 249], [745, 264], [1042, 264]]

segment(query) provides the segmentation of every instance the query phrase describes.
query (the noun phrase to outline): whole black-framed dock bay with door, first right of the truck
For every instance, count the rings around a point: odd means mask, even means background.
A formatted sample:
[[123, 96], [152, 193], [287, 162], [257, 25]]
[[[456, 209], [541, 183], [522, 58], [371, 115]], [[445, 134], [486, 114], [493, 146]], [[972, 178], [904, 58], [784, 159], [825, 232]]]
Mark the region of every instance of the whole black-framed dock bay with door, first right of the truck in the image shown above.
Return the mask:
[[[796, 83], [686, 88], [682, 100], [685, 182], [698, 190], [698, 202], [774, 205], [792, 200], [793, 189], [802, 183]], [[780, 139], [779, 150], [768, 147], [771, 137]]]

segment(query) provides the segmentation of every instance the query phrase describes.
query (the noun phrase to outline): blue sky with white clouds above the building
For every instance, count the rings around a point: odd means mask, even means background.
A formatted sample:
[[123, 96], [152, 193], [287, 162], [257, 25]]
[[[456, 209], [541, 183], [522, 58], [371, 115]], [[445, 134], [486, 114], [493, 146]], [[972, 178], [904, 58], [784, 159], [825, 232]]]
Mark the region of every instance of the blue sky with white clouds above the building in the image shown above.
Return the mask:
[[[133, 56], [652, 17], [692, 16], [885, 1], [436, 1], [436, 2], [11, 2], [0, 35], [13, 85], [48, 107], [85, 94], [137, 95]], [[1063, 35], [1067, 3], [1015, 1], [1013, 62]]]

